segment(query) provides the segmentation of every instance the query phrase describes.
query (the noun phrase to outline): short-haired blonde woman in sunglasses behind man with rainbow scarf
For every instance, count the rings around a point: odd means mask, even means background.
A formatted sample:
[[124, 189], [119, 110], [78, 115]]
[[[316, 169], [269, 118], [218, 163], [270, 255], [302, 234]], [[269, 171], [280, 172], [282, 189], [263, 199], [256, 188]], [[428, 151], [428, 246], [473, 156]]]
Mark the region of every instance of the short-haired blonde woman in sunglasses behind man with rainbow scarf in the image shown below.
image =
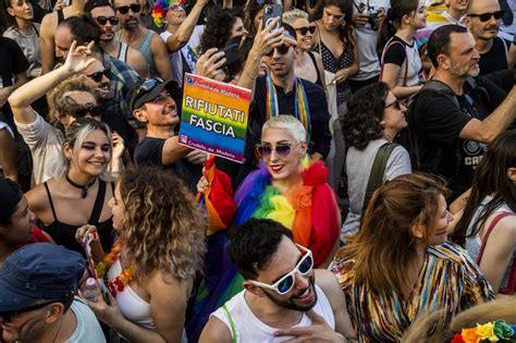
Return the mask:
[[296, 75], [325, 88], [321, 57], [319, 53], [310, 51], [314, 46], [316, 24], [308, 22], [308, 13], [297, 9], [283, 13], [282, 20], [283, 23], [291, 25], [296, 32], [295, 37], [299, 51], [294, 60]]

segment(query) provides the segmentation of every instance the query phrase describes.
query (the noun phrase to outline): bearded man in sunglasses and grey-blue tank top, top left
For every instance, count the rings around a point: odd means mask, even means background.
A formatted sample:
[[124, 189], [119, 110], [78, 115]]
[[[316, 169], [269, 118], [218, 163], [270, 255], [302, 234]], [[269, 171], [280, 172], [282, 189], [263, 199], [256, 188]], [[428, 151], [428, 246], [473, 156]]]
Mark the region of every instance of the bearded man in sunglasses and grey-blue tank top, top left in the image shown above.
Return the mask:
[[125, 42], [144, 53], [150, 77], [172, 79], [167, 45], [157, 33], [140, 24], [142, 5], [136, 0], [115, 0], [113, 5], [122, 25], [122, 29], [114, 35], [114, 40]]

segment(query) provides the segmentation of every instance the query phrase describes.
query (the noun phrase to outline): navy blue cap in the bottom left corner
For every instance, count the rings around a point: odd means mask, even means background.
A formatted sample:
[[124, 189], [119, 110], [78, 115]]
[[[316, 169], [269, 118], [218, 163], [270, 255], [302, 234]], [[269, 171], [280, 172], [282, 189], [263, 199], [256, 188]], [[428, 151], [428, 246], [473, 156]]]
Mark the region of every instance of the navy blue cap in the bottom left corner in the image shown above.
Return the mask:
[[0, 313], [39, 299], [73, 297], [85, 266], [81, 254], [56, 244], [34, 243], [15, 250], [0, 268]]

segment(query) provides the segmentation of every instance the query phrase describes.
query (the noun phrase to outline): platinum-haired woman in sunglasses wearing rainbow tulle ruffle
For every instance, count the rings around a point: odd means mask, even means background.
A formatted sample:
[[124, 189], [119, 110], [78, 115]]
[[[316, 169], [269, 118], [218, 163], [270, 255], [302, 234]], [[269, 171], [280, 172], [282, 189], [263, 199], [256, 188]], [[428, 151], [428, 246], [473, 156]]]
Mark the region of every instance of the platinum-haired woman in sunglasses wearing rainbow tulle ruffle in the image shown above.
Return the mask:
[[[297, 244], [314, 253], [316, 267], [327, 267], [339, 246], [340, 212], [327, 184], [328, 170], [308, 161], [305, 127], [293, 115], [268, 120], [257, 154], [260, 169], [236, 191], [233, 222], [242, 224], [250, 218], [279, 221], [293, 231]], [[207, 187], [202, 177], [198, 191], [204, 193]]]

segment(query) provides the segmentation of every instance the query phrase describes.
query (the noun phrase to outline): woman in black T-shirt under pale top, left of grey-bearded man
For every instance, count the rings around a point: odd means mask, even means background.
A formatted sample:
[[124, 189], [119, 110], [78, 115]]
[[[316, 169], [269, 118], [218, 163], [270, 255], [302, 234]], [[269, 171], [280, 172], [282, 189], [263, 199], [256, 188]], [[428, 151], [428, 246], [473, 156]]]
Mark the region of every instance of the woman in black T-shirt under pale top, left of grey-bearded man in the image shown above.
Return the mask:
[[380, 81], [398, 99], [408, 98], [421, 88], [422, 63], [414, 36], [426, 26], [423, 0], [391, 0], [378, 39], [378, 51], [383, 51]]

